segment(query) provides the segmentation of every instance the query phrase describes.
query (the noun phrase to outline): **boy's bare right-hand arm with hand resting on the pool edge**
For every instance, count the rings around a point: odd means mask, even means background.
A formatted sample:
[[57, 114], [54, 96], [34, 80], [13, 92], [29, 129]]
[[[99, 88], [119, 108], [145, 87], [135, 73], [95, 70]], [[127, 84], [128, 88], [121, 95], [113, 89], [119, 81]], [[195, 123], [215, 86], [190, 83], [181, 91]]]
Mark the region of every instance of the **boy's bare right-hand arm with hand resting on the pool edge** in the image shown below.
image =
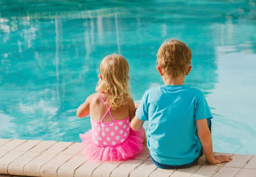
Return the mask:
[[222, 162], [230, 162], [233, 160], [232, 157], [227, 155], [213, 155], [212, 135], [207, 124], [207, 119], [200, 119], [196, 121], [196, 125], [198, 127], [198, 137], [201, 141], [206, 160], [209, 164], [214, 165]]

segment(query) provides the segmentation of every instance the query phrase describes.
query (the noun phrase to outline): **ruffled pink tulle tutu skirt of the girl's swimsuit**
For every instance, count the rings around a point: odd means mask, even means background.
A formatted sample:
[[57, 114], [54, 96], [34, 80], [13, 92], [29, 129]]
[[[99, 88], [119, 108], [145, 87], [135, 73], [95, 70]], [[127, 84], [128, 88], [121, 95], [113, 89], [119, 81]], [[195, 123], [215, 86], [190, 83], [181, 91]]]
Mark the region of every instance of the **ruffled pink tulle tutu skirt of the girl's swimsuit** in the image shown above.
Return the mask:
[[130, 128], [130, 135], [126, 140], [116, 146], [97, 146], [93, 142], [92, 130], [80, 134], [82, 140], [83, 154], [92, 161], [119, 161], [134, 159], [135, 155], [142, 151], [145, 138], [145, 129], [142, 127], [138, 131]]

